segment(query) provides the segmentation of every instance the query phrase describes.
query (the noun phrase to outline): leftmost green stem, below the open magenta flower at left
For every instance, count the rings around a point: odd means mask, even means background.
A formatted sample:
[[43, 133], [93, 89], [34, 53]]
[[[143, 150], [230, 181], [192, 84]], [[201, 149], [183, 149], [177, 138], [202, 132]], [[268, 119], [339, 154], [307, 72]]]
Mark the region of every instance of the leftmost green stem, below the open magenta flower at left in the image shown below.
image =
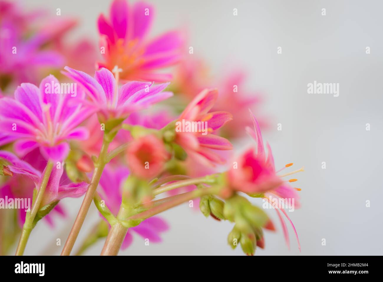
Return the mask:
[[29, 235], [31, 234], [33, 228], [33, 221], [37, 212], [39, 211], [41, 201], [43, 201], [44, 192], [48, 184], [49, 177], [51, 176], [52, 168], [53, 162], [49, 160], [45, 168], [41, 186], [39, 187], [36, 195], [36, 200], [33, 203], [31, 211], [28, 212], [25, 216], [25, 223], [23, 225], [23, 230], [21, 231], [20, 240], [17, 245], [15, 256], [22, 256], [24, 254], [26, 243], [28, 242]]

